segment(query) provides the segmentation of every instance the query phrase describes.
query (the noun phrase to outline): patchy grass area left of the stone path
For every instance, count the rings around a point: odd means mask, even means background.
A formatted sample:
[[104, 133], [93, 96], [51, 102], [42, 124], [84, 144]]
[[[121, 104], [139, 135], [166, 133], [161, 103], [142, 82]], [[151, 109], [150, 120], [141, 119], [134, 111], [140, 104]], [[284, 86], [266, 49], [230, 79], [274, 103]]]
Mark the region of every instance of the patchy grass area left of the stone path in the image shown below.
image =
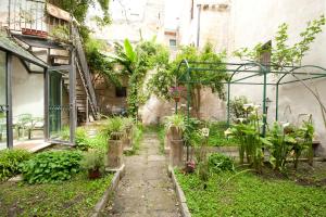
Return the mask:
[[2, 183], [0, 216], [89, 216], [112, 178], [88, 180], [78, 174], [61, 183]]

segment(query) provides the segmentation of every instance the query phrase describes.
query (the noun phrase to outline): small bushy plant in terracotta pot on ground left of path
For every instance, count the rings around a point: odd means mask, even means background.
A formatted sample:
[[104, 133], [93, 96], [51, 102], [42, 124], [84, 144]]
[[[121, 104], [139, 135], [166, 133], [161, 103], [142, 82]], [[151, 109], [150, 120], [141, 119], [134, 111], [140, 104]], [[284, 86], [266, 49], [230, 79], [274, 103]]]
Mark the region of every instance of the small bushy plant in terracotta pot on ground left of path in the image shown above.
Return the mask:
[[80, 165], [82, 168], [88, 171], [89, 179], [98, 179], [104, 170], [104, 155], [98, 150], [88, 152]]

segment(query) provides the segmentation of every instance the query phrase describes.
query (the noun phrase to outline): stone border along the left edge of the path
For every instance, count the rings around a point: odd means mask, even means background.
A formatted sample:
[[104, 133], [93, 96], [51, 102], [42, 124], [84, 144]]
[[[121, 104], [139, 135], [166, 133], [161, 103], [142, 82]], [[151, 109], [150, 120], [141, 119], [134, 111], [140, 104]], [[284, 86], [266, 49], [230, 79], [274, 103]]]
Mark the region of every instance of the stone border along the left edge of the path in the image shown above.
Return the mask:
[[118, 169], [115, 170], [114, 177], [111, 181], [110, 187], [105, 190], [102, 197], [96, 204], [91, 217], [98, 217], [101, 214], [101, 210], [105, 207], [110, 194], [115, 191], [117, 188], [118, 181], [125, 175], [125, 165], [123, 164]]

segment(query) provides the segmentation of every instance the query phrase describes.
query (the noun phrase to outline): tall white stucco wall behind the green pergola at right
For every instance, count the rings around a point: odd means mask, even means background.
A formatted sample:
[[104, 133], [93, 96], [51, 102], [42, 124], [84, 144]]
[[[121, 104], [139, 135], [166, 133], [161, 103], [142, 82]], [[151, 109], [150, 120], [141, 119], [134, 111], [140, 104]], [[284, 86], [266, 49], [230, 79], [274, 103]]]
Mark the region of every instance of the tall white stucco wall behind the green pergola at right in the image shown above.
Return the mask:
[[[229, 30], [229, 50], [252, 48], [258, 42], [274, 42], [274, 36], [281, 23], [289, 25], [289, 42], [298, 42], [299, 34], [305, 29], [306, 22], [318, 18], [326, 12], [326, 1], [315, 0], [234, 0], [231, 8], [231, 29]], [[304, 56], [304, 64], [326, 67], [326, 28], [311, 46], [311, 51]], [[231, 59], [230, 59], [231, 60]], [[301, 71], [302, 72], [302, 71]], [[304, 71], [303, 71], [304, 72]], [[310, 72], [310, 71], [305, 71]], [[261, 78], [258, 78], [262, 80]], [[275, 78], [274, 78], [275, 79]], [[291, 79], [291, 78], [289, 78]], [[273, 77], [269, 78], [273, 80]], [[286, 79], [285, 79], [286, 80]], [[313, 80], [310, 87], [317, 90], [322, 101], [326, 104], [326, 79]], [[233, 87], [233, 95], [248, 95], [256, 103], [262, 103], [262, 87], [237, 86]], [[269, 87], [267, 97], [272, 99], [268, 110], [268, 120], [273, 122], [275, 115], [275, 88]], [[326, 130], [322, 119], [321, 107], [314, 97], [300, 84], [281, 86], [279, 89], [279, 120], [297, 122], [299, 114], [312, 114], [318, 138], [323, 141], [326, 153]]]

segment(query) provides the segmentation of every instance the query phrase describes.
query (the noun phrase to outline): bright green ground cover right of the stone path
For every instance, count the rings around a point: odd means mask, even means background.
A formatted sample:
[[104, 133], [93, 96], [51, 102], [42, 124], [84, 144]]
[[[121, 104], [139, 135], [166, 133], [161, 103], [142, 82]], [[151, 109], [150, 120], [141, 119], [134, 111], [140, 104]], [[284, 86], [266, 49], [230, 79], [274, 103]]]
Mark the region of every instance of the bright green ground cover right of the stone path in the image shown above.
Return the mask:
[[[264, 170], [213, 174], [203, 189], [196, 174], [176, 170], [192, 216], [325, 216], [326, 163], [304, 165], [288, 178]], [[309, 182], [308, 182], [309, 180]]]

